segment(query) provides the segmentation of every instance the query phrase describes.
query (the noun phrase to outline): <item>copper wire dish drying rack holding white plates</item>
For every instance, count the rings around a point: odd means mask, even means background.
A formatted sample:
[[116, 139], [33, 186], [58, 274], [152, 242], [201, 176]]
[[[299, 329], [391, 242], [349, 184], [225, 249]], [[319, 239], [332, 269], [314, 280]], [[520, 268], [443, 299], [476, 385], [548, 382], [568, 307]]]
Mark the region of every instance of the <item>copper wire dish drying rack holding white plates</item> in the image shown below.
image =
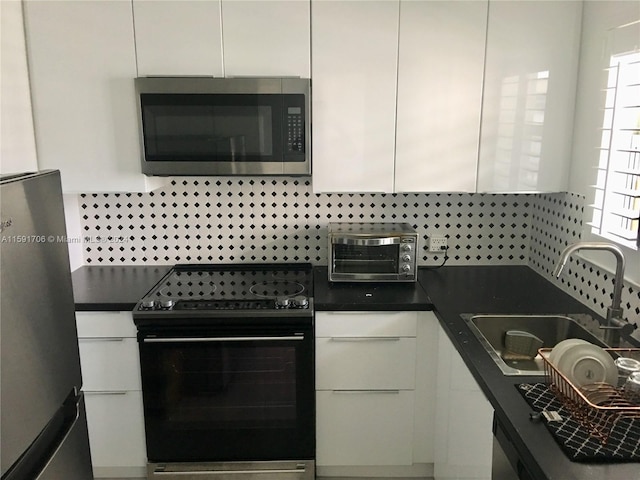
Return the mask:
[[[638, 419], [640, 405], [631, 403], [623, 395], [622, 387], [606, 383], [593, 383], [578, 388], [549, 361], [551, 348], [541, 348], [545, 379], [549, 389], [571, 412], [573, 417], [604, 444], [618, 420], [624, 417]], [[640, 360], [640, 348], [605, 348], [614, 358], [631, 357]], [[594, 403], [597, 401], [597, 403]]]

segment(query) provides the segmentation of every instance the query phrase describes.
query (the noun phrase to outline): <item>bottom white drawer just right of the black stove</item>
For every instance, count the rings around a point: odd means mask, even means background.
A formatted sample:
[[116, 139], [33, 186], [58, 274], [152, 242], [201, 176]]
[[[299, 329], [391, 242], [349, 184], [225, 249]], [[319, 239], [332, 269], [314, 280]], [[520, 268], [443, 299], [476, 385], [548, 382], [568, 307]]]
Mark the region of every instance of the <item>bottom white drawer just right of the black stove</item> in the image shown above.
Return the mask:
[[413, 392], [316, 392], [316, 465], [411, 465]]

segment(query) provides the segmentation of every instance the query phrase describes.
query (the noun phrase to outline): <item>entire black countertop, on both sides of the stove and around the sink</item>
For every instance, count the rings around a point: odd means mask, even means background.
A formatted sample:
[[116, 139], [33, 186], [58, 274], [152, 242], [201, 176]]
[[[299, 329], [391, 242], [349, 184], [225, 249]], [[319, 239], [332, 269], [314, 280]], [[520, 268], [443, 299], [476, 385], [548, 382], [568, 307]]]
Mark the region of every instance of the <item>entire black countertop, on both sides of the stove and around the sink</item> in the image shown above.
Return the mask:
[[[132, 310], [169, 266], [85, 266], [72, 274], [76, 310]], [[316, 310], [434, 310], [491, 402], [526, 468], [541, 480], [640, 480], [638, 463], [571, 462], [547, 428], [529, 420], [518, 383], [540, 377], [502, 375], [460, 313], [587, 313], [597, 315], [526, 266], [420, 269], [415, 284], [330, 284], [314, 268]]]

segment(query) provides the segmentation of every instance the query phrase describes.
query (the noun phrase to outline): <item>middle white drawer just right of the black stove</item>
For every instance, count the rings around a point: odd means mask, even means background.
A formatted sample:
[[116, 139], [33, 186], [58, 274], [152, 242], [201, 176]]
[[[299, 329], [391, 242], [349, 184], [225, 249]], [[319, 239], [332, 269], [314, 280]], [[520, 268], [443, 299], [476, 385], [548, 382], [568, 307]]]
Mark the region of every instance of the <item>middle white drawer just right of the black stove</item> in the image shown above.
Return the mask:
[[317, 390], [412, 390], [415, 367], [415, 338], [316, 338]]

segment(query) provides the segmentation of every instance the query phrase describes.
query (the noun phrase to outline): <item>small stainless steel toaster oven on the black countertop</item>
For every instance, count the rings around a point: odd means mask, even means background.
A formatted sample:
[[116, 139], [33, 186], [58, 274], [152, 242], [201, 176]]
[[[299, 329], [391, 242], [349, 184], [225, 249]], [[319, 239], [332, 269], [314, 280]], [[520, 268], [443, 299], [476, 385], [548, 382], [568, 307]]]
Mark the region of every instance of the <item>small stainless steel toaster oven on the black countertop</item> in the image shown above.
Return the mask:
[[418, 233], [408, 223], [329, 223], [329, 280], [415, 282]]

